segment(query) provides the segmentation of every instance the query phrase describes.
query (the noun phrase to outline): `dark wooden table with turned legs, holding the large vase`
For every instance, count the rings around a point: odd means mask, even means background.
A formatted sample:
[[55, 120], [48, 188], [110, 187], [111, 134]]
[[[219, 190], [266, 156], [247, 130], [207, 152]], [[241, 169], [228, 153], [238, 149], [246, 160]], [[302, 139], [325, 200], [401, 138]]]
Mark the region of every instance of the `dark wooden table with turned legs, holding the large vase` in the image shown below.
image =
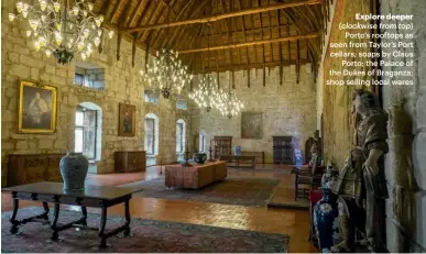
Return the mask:
[[[107, 246], [107, 239], [123, 232], [124, 236], [130, 235], [130, 211], [129, 201], [132, 198], [133, 192], [140, 191], [140, 189], [120, 188], [120, 187], [102, 187], [102, 186], [86, 186], [81, 191], [64, 190], [62, 183], [41, 181], [30, 185], [21, 185], [15, 187], [4, 188], [3, 190], [10, 191], [13, 199], [13, 212], [10, 218], [12, 228], [10, 232], [12, 234], [18, 233], [18, 227], [33, 221], [34, 219], [42, 219], [48, 221], [48, 206], [47, 202], [54, 203], [54, 219], [51, 221], [51, 229], [53, 230], [52, 240], [58, 239], [58, 232], [73, 228], [76, 224], [87, 225], [87, 207], [101, 208], [101, 219], [99, 224], [99, 247]], [[44, 212], [42, 214], [30, 217], [23, 220], [17, 220], [17, 213], [19, 210], [19, 200], [39, 200], [43, 202]], [[125, 223], [110, 232], [105, 232], [107, 223], [107, 209], [118, 203], [124, 203], [125, 208]], [[59, 219], [59, 205], [73, 205], [81, 207], [81, 218], [69, 222], [67, 224], [57, 225]]]

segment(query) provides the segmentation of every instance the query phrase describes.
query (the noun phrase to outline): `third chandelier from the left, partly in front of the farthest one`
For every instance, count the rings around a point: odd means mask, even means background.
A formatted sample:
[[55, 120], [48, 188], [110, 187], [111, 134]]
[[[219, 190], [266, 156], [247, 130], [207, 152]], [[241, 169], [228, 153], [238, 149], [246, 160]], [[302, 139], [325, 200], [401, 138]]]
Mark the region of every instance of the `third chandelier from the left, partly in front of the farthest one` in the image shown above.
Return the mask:
[[222, 89], [218, 88], [216, 79], [209, 75], [203, 77], [197, 89], [189, 93], [189, 98], [195, 101], [199, 108], [206, 108], [210, 112], [212, 108], [219, 109], [223, 98]]

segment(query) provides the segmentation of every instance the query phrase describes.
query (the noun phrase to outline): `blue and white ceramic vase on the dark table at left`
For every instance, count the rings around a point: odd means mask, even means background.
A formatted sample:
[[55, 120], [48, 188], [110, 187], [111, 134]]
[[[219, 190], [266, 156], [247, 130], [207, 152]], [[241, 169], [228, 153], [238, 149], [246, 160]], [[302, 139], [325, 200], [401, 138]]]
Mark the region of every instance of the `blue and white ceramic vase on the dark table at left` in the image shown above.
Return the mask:
[[81, 153], [67, 153], [59, 163], [65, 190], [83, 190], [89, 161]]

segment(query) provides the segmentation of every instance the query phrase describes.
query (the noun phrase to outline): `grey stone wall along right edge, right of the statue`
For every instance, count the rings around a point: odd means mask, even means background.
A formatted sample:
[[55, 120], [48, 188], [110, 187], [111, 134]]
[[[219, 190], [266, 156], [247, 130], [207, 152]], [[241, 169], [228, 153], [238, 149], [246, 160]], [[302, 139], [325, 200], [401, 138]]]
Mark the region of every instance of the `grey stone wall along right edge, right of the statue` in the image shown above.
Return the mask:
[[[424, 0], [381, 0], [381, 14], [413, 14], [415, 48], [413, 67], [383, 67], [383, 70], [411, 70], [414, 86], [384, 86], [383, 108], [390, 113], [385, 157], [391, 198], [386, 206], [386, 235], [390, 252], [426, 251], [426, 2]], [[391, 23], [391, 22], [387, 22]], [[395, 22], [396, 23], [396, 22]], [[383, 33], [386, 31], [382, 31]], [[395, 33], [394, 30], [389, 30]], [[392, 40], [395, 42], [395, 40]], [[390, 40], [383, 40], [390, 42]], [[392, 52], [385, 48], [386, 52]], [[409, 59], [392, 57], [391, 60]], [[400, 77], [383, 77], [392, 80]], [[406, 79], [406, 78], [405, 78]]]

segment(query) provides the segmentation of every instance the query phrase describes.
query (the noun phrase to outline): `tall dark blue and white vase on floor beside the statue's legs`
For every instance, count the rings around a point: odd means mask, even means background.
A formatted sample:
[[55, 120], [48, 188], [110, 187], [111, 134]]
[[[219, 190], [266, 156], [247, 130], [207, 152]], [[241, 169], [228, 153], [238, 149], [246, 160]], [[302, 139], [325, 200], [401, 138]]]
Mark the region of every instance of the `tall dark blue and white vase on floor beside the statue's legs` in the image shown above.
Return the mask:
[[334, 245], [336, 232], [336, 218], [339, 216], [337, 208], [337, 195], [332, 194], [332, 187], [337, 180], [337, 173], [327, 169], [321, 179], [323, 198], [314, 207], [314, 224], [323, 253], [329, 253]]

